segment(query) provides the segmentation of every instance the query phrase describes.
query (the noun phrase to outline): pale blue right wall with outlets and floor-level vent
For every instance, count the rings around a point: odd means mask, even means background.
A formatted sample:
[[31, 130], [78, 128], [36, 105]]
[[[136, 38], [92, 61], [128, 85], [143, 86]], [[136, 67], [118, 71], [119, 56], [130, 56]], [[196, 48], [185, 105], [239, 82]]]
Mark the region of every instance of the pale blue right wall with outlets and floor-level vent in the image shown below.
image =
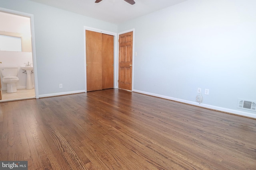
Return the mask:
[[[188, 0], [118, 25], [135, 29], [134, 91], [256, 117], [256, 1]], [[204, 95], [209, 89], [209, 95]]]

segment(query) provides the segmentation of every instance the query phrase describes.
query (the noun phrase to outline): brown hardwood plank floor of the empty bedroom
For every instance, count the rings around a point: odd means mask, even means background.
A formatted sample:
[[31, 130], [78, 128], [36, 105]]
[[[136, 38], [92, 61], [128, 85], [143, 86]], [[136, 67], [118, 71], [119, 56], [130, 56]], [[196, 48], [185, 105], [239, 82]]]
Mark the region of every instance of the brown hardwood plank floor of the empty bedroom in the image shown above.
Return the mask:
[[0, 160], [29, 170], [255, 170], [256, 120], [118, 89], [5, 102]]

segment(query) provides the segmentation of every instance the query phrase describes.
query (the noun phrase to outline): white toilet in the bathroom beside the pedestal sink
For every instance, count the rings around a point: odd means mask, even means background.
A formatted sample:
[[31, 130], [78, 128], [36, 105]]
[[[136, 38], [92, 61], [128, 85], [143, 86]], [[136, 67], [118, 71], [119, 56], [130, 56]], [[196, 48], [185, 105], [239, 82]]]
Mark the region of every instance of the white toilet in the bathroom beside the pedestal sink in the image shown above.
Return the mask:
[[2, 73], [2, 82], [7, 84], [6, 93], [15, 93], [17, 92], [16, 82], [19, 81], [18, 67], [1, 67]]

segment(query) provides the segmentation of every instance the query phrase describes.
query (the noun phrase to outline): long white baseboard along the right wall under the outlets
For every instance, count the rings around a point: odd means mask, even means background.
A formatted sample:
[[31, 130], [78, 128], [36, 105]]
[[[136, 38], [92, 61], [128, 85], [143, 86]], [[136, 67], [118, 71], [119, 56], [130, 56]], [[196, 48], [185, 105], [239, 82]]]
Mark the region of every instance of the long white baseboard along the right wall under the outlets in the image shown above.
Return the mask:
[[174, 101], [177, 101], [177, 102], [182, 102], [182, 103], [185, 103], [185, 104], [191, 104], [191, 105], [194, 105], [194, 106], [200, 106], [200, 107], [204, 107], [204, 108], [207, 108], [207, 109], [214, 109], [214, 110], [224, 111], [224, 112], [232, 113], [232, 114], [236, 114], [236, 115], [242, 115], [242, 116], [246, 116], [246, 117], [256, 118], [256, 114], [254, 114], [254, 113], [247, 113], [247, 112], [244, 112], [244, 111], [227, 109], [227, 108], [224, 108], [224, 107], [212, 106], [212, 105], [208, 105], [208, 104], [199, 104], [197, 102], [182, 100], [182, 99], [178, 99], [178, 98], [172, 98], [172, 97], [169, 97], [169, 96], [163, 96], [163, 95], [144, 92], [144, 91], [140, 91], [140, 90], [133, 90], [133, 92], [137, 92], [137, 93], [141, 93], [141, 94], [147, 94], [147, 95], [150, 95], [150, 96], [155, 96], [155, 97], [169, 99], [169, 100], [174, 100]]

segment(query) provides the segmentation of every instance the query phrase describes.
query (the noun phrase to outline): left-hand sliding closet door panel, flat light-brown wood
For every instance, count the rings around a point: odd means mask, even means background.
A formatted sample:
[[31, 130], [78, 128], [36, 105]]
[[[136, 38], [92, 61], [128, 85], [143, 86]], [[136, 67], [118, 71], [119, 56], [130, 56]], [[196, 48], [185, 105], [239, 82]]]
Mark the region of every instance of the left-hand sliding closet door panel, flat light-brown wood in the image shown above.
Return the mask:
[[102, 33], [86, 30], [87, 91], [102, 90]]

